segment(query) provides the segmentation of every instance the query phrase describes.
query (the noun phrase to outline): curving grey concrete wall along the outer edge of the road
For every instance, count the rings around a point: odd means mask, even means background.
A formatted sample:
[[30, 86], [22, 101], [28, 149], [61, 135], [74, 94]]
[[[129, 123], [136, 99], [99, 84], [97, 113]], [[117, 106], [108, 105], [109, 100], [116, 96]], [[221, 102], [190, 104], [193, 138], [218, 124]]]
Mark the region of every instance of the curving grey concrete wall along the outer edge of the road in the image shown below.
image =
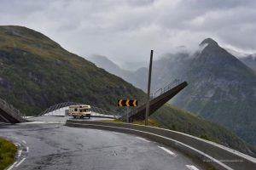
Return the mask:
[[161, 144], [172, 146], [177, 150], [181, 150], [189, 156], [205, 161], [216, 169], [256, 169], [256, 159], [251, 156], [247, 156], [236, 150], [231, 150], [220, 144], [215, 144], [204, 139], [199, 139], [172, 130], [127, 123], [73, 120], [68, 120], [67, 126], [105, 129], [142, 136]]

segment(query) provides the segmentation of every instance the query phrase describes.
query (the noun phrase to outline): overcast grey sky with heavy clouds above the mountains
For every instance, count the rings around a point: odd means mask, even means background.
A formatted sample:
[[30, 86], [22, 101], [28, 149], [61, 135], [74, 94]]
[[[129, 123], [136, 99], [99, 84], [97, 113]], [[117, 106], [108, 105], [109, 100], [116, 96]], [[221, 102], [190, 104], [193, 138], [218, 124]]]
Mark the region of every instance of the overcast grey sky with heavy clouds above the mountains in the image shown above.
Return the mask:
[[80, 56], [148, 61], [206, 37], [256, 51], [255, 0], [0, 0], [0, 25], [32, 28]]

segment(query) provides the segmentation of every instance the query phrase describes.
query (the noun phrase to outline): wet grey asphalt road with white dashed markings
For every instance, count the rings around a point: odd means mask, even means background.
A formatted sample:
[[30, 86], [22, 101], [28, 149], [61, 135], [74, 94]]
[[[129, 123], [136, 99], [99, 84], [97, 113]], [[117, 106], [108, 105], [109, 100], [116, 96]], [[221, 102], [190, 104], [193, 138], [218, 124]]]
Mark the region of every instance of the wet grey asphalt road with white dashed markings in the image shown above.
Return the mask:
[[2, 125], [0, 136], [22, 150], [9, 169], [206, 169], [177, 150], [125, 133], [61, 123], [21, 123]]

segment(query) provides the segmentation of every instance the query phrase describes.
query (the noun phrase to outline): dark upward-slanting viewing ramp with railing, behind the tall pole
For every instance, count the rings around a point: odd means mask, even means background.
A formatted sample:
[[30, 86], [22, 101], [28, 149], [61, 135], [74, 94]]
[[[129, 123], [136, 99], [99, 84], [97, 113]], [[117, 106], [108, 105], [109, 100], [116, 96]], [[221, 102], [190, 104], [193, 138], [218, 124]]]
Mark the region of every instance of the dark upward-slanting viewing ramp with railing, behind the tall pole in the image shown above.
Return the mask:
[[[151, 99], [149, 102], [149, 116], [157, 111], [162, 105], [164, 105], [167, 101], [172, 99], [176, 94], [178, 94], [183, 88], [188, 86], [187, 82], [176, 82], [177, 86], [171, 88], [172, 85], [166, 86], [166, 88], [160, 88], [154, 94], [154, 99]], [[172, 83], [173, 84], [173, 83]], [[159, 95], [157, 95], [159, 94]], [[144, 105], [139, 106], [136, 110], [128, 112], [124, 116], [119, 117], [119, 120], [126, 121], [127, 117], [129, 118], [129, 122], [133, 122], [133, 120], [144, 120], [146, 112], [146, 103]]]

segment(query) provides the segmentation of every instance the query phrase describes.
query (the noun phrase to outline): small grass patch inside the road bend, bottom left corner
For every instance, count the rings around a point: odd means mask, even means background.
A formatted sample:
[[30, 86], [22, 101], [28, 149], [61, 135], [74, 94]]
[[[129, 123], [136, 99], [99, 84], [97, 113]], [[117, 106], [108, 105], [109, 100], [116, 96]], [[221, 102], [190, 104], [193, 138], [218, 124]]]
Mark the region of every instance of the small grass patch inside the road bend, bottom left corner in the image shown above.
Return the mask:
[[0, 138], [0, 170], [3, 170], [15, 161], [16, 152], [15, 144]]

